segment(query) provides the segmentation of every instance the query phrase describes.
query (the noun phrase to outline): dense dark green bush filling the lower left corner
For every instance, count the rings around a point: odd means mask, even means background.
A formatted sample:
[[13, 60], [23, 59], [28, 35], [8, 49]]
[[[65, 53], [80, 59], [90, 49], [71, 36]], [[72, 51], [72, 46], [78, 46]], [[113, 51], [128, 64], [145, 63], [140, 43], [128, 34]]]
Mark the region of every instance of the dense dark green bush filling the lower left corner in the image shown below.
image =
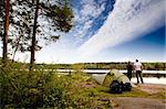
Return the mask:
[[28, 72], [22, 67], [15, 63], [0, 67], [0, 108], [66, 107], [63, 79], [51, 72]]

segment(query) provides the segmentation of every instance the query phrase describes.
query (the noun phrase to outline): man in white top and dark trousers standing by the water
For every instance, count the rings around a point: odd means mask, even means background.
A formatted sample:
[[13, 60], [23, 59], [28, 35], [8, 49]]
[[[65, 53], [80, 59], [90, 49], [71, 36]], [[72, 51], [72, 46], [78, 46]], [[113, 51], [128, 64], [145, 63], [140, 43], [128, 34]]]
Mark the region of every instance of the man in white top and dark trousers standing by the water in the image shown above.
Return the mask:
[[139, 84], [138, 76], [141, 77], [142, 84], [144, 84], [143, 77], [142, 77], [142, 69], [143, 69], [143, 67], [142, 67], [142, 63], [139, 63], [138, 59], [136, 59], [136, 63], [134, 63], [134, 68], [136, 70], [137, 84]]

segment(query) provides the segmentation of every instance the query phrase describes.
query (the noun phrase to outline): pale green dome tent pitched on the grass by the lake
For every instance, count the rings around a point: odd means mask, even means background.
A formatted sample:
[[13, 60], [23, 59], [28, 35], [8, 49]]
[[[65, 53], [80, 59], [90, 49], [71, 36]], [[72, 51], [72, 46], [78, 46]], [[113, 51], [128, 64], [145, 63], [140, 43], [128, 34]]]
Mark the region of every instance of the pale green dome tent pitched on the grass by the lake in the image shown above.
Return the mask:
[[[107, 74], [93, 74], [92, 78], [95, 79], [98, 84], [110, 87], [113, 80], [125, 83], [131, 83], [128, 77], [125, 76], [123, 73], [120, 73], [117, 69], [112, 69]], [[131, 83], [132, 87], [135, 87], [133, 83]]]

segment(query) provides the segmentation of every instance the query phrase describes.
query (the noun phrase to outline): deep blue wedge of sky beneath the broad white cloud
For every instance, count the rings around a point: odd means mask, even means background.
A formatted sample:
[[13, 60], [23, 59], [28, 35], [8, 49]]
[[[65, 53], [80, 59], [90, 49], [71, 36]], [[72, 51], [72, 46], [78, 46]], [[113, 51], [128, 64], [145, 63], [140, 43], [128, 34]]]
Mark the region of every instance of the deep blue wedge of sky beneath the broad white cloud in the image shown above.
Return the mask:
[[165, 40], [165, 26], [162, 26], [141, 37], [104, 50], [107, 51], [105, 56], [107, 59], [111, 59], [111, 56], [116, 57], [113, 61], [139, 58], [143, 62], [164, 62]]

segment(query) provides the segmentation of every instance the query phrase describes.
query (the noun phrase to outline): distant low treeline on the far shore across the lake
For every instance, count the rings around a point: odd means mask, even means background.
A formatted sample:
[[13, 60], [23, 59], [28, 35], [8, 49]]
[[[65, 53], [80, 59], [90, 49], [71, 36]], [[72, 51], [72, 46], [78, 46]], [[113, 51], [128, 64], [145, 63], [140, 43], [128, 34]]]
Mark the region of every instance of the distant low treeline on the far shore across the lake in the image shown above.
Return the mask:
[[[142, 63], [145, 70], [166, 70], [166, 63]], [[60, 69], [126, 69], [127, 63], [77, 63], [77, 64], [40, 64], [46, 68]]]

